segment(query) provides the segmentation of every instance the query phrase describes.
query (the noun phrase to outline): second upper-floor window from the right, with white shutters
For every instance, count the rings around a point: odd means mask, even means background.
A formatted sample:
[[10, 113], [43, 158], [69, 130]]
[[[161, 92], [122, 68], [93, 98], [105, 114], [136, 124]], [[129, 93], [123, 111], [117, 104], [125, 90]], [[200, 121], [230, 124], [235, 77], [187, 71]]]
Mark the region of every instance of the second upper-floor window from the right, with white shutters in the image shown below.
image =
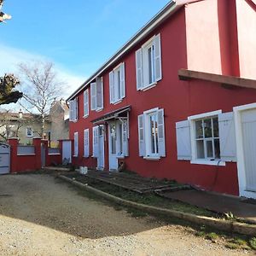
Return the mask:
[[109, 73], [110, 103], [120, 102], [125, 98], [125, 62]]

